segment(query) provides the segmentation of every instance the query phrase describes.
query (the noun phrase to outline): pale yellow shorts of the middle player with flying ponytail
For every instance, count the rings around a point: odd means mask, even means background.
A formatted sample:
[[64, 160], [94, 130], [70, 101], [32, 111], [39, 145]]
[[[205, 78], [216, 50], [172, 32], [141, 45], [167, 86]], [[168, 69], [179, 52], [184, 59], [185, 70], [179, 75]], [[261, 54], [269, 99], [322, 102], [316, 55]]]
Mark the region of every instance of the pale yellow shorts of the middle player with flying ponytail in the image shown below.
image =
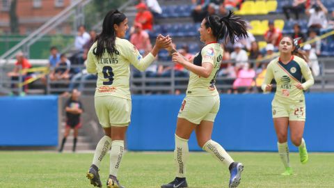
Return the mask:
[[219, 95], [207, 97], [186, 96], [177, 117], [189, 120], [196, 125], [199, 125], [202, 120], [214, 122], [220, 103]]

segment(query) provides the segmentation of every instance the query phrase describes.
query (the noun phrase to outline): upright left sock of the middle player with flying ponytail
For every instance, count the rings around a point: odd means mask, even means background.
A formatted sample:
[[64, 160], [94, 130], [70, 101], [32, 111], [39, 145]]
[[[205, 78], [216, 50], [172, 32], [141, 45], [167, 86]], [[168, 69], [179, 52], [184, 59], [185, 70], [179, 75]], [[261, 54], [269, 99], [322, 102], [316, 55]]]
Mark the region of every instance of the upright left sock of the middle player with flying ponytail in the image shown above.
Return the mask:
[[182, 139], [175, 134], [174, 162], [176, 166], [176, 177], [186, 177], [186, 159], [188, 158], [188, 140]]

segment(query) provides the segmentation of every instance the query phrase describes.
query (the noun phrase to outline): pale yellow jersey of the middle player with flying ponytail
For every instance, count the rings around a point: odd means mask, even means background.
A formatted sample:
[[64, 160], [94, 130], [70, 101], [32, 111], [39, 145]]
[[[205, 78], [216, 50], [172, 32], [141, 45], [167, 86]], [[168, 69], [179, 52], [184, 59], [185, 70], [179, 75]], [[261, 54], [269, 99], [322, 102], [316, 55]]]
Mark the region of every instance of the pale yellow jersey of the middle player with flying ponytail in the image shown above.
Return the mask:
[[200, 77], [190, 72], [189, 84], [186, 95], [189, 96], [212, 96], [218, 95], [216, 86], [216, 76], [221, 67], [221, 59], [223, 58], [223, 48], [218, 43], [210, 43], [202, 48], [195, 58], [193, 64], [202, 66], [202, 63], [212, 63], [214, 68], [208, 78]]

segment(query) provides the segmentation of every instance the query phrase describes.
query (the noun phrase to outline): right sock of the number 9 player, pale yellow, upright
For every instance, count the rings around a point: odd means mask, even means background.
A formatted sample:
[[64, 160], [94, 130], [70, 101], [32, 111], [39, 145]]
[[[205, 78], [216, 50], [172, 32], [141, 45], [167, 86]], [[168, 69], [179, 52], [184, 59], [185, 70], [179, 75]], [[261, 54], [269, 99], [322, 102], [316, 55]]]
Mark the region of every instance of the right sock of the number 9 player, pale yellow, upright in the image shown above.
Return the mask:
[[117, 177], [120, 162], [124, 152], [124, 141], [116, 140], [111, 143], [109, 174]]

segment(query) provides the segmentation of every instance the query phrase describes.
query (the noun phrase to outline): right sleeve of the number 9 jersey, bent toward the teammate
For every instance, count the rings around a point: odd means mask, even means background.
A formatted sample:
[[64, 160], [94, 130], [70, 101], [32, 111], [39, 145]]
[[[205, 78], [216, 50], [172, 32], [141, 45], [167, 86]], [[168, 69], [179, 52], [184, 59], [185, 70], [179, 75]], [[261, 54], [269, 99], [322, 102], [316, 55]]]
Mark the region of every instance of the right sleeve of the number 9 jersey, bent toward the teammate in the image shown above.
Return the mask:
[[124, 42], [123, 53], [125, 54], [125, 58], [127, 58], [127, 60], [132, 63], [135, 68], [143, 71], [148, 68], [151, 63], [153, 63], [155, 57], [151, 53], [143, 58], [143, 56], [141, 56], [141, 54], [138, 52], [138, 49], [132, 45], [132, 43], [130, 43], [128, 40], [122, 40], [122, 42]]

